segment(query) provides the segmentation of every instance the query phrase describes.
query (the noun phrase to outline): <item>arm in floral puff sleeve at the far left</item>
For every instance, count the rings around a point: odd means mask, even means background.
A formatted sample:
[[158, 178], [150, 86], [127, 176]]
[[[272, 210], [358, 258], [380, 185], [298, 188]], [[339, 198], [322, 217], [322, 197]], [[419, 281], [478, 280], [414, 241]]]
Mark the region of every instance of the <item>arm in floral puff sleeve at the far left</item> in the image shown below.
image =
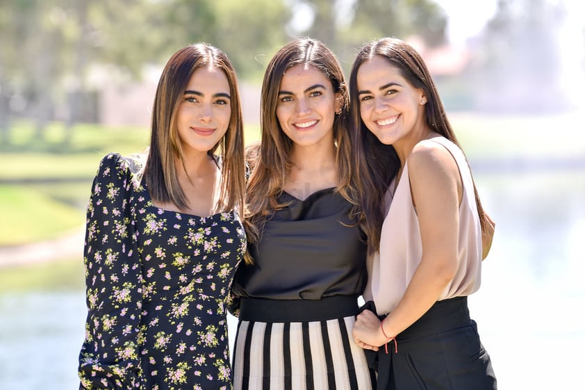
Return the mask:
[[110, 154], [93, 181], [83, 259], [88, 318], [79, 355], [82, 389], [132, 389], [138, 382], [142, 270], [130, 177], [120, 156]]

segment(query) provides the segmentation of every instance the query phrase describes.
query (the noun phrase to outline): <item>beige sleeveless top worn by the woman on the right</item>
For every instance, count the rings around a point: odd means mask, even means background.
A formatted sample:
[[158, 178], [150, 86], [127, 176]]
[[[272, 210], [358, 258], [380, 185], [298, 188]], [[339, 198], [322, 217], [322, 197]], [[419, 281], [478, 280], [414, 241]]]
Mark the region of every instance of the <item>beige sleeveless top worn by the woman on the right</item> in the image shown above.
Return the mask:
[[[481, 281], [481, 226], [471, 173], [461, 149], [447, 138], [432, 138], [454, 157], [463, 181], [463, 197], [459, 206], [459, 267], [455, 277], [441, 293], [439, 300], [470, 295]], [[374, 300], [378, 314], [392, 311], [406, 291], [422, 258], [418, 216], [411, 198], [408, 161], [395, 193], [395, 180], [386, 193], [386, 218], [382, 225], [379, 252], [368, 259], [368, 286], [365, 300]], [[437, 204], [440, 207], [440, 204]]]

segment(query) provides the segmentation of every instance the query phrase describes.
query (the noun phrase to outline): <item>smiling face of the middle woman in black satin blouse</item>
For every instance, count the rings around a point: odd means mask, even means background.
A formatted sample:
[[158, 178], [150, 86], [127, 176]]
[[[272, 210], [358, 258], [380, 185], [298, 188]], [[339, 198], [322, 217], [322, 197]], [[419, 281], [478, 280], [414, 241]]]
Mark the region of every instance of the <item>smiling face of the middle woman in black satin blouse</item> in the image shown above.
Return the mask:
[[340, 109], [340, 95], [331, 81], [304, 64], [286, 70], [280, 83], [277, 117], [295, 145], [333, 142], [333, 120]]

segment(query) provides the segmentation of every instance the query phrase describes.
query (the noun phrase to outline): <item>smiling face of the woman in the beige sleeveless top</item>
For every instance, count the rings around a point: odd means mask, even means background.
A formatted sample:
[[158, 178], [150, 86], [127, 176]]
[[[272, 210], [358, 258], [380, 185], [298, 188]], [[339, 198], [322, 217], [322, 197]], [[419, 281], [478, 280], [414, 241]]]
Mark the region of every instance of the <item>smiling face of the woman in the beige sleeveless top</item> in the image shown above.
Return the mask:
[[361, 120], [381, 143], [394, 145], [425, 133], [425, 93], [386, 58], [375, 56], [363, 63], [356, 80]]

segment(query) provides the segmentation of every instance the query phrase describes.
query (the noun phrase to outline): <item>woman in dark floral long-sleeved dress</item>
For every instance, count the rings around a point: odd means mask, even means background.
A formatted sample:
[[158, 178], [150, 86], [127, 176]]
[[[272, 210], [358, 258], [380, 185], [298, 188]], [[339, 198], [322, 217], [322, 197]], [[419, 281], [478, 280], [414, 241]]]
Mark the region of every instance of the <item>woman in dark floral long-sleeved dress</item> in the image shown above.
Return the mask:
[[245, 252], [244, 167], [231, 63], [208, 44], [180, 49], [146, 162], [108, 154], [94, 179], [81, 389], [231, 389], [224, 307]]

